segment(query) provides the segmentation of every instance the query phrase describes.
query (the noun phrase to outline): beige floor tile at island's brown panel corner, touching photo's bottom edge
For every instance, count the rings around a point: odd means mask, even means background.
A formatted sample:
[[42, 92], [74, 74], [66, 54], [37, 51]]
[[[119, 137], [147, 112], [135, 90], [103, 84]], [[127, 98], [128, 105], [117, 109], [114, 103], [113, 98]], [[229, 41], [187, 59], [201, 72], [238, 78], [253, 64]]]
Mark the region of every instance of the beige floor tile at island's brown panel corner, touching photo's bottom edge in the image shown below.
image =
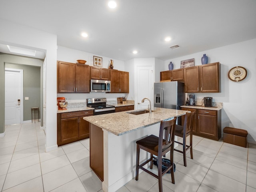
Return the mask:
[[99, 191], [102, 189], [102, 182], [93, 171], [88, 172], [79, 178], [88, 192]]

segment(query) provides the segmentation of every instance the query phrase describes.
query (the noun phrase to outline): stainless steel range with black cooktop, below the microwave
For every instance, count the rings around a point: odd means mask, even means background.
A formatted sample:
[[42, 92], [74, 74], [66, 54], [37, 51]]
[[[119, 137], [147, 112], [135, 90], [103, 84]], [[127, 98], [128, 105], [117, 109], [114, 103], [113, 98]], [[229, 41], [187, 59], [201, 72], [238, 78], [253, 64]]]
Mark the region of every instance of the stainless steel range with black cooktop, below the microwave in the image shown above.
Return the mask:
[[90, 98], [86, 100], [88, 107], [94, 108], [94, 115], [114, 113], [115, 107], [106, 104], [106, 98]]

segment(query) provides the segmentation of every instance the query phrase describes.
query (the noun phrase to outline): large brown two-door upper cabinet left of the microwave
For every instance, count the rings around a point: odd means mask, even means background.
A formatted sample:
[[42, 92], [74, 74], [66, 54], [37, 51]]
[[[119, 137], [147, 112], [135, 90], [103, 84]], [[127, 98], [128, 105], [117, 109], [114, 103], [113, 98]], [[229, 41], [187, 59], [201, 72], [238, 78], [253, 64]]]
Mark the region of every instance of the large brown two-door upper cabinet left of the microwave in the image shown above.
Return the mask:
[[57, 93], [89, 93], [90, 67], [57, 61]]

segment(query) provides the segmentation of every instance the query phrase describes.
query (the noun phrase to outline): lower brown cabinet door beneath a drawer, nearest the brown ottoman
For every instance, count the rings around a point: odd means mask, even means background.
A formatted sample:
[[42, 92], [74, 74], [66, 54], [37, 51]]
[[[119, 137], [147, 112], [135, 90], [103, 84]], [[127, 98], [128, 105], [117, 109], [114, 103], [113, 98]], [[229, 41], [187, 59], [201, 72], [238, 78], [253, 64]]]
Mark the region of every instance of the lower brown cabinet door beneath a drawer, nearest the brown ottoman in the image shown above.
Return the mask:
[[217, 137], [216, 116], [198, 114], [198, 133]]

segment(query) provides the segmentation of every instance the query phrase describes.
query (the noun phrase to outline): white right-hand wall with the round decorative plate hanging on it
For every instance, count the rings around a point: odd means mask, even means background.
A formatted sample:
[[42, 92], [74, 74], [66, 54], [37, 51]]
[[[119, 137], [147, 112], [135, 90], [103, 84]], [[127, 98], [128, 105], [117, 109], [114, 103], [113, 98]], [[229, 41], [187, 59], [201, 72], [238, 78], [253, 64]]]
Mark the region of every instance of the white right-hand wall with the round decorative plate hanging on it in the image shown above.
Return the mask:
[[[195, 93], [198, 99], [213, 97], [214, 102], [223, 102], [222, 129], [226, 126], [248, 131], [248, 142], [256, 143], [256, 39], [240, 42], [216, 49], [206, 50], [179, 58], [164, 61], [164, 70], [168, 70], [170, 61], [174, 69], [180, 68], [180, 61], [195, 58], [195, 65], [201, 65], [203, 54], [208, 63], [221, 64], [221, 92]], [[241, 82], [228, 79], [228, 71], [234, 66], [247, 69], [247, 77]]]

